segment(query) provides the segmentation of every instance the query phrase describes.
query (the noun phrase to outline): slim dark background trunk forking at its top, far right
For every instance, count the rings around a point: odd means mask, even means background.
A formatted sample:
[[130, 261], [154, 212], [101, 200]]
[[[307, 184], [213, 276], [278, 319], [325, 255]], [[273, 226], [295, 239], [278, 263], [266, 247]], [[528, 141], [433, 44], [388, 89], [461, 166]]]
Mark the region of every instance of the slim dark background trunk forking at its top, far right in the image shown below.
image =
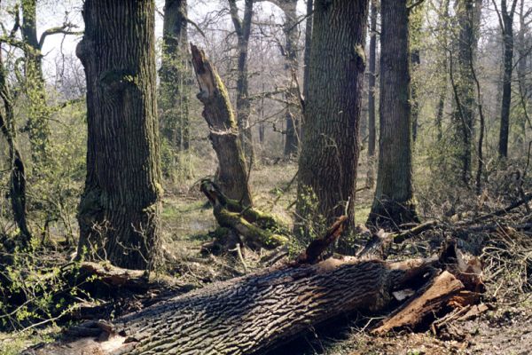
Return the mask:
[[506, 0], [501, 0], [499, 15], [503, 35], [503, 99], [501, 104], [501, 127], [499, 131], [498, 154], [501, 158], [508, 156], [508, 135], [510, 133], [510, 106], [512, 105], [512, 70], [513, 70], [513, 14], [517, 0], [512, 1], [512, 8], [508, 11]]

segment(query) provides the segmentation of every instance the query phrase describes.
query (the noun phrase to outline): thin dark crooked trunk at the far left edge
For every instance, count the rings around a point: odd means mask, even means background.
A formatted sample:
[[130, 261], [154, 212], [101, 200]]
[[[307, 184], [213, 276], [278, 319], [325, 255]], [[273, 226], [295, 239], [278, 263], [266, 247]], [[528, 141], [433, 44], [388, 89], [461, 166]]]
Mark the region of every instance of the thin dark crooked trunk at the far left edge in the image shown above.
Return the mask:
[[9, 148], [10, 185], [9, 198], [11, 200], [15, 224], [19, 228], [20, 246], [26, 248], [31, 241], [31, 233], [27, 227], [26, 211], [26, 172], [22, 155], [16, 142], [14, 110], [12, 94], [5, 80], [5, 67], [0, 48], [0, 98], [4, 102], [4, 114], [0, 112], [0, 131]]

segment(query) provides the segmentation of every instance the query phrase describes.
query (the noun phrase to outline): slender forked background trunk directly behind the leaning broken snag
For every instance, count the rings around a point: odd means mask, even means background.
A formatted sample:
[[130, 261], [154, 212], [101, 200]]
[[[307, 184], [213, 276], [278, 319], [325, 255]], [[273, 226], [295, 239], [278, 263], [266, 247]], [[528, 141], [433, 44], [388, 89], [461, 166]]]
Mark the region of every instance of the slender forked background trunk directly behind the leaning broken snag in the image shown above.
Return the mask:
[[247, 51], [249, 36], [251, 34], [251, 20], [253, 18], [253, 0], [244, 2], [244, 18], [239, 19], [239, 8], [236, 0], [228, 0], [231, 12], [231, 20], [238, 36], [239, 63], [237, 78], [237, 122], [239, 124], [240, 143], [246, 157], [250, 163], [254, 161], [253, 134], [251, 132], [249, 118], [251, 115], [251, 104], [249, 102], [249, 92], [247, 83]]

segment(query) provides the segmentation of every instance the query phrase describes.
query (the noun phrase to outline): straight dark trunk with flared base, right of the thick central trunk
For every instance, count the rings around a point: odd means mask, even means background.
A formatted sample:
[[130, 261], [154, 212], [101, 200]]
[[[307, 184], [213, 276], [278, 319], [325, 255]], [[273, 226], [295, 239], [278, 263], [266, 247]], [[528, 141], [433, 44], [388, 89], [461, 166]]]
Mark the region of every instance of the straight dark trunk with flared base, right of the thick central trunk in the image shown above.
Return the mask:
[[409, 11], [406, 0], [382, 0], [380, 137], [377, 188], [368, 223], [417, 221], [412, 189]]

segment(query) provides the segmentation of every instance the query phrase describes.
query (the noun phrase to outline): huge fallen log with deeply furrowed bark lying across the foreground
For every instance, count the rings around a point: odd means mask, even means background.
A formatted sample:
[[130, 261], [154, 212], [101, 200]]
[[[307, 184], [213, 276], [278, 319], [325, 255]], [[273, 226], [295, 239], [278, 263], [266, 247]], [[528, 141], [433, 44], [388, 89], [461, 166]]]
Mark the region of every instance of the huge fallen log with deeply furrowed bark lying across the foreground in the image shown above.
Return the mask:
[[[271, 350], [340, 314], [382, 312], [394, 304], [396, 291], [427, 288], [440, 273], [437, 266], [450, 263], [449, 253], [444, 255], [448, 260], [327, 259], [267, 269], [177, 296], [113, 323], [90, 323], [86, 333], [83, 327], [76, 328], [77, 335], [101, 333], [99, 341], [82, 338], [26, 353], [252, 354]], [[461, 281], [452, 283], [445, 291], [464, 289]]]

